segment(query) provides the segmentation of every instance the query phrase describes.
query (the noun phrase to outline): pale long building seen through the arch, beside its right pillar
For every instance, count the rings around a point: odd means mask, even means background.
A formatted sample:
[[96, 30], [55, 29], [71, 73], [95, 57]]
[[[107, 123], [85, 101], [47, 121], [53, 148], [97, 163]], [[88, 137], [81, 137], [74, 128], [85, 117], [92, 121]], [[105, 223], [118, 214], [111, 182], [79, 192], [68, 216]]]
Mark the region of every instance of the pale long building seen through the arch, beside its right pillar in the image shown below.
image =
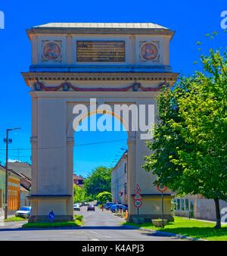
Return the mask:
[[115, 203], [128, 204], [127, 161], [128, 153], [126, 151], [111, 172], [111, 194]]

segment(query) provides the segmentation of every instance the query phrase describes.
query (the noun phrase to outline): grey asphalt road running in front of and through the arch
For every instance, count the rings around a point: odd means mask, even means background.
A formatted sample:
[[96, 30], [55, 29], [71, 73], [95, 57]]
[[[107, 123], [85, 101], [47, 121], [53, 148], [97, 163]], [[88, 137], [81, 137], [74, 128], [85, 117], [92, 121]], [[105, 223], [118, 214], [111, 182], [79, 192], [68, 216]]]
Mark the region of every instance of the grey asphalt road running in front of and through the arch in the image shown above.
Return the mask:
[[24, 222], [0, 222], [0, 241], [174, 241], [175, 237], [154, 236], [138, 229], [121, 226], [123, 219], [110, 211], [86, 211], [82, 207], [76, 214], [84, 217], [84, 226], [76, 229], [24, 230]]

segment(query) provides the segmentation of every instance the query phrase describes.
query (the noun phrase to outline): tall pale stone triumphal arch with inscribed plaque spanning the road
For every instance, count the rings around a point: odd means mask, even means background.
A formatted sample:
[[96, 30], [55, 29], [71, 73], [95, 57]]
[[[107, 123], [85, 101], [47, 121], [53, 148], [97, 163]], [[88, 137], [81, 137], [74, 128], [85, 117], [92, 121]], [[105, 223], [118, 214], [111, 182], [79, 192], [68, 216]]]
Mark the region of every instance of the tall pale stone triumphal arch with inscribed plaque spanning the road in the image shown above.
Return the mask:
[[[72, 220], [75, 106], [151, 105], [157, 121], [160, 88], [173, 86], [178, 76], [169, 64], [174, 32], [154, 23], [48, 23], [32, 27], [27, 35], [32, 44], [32, 64], [23, 73], [32, 98], [30, 221], [48, 220], [51, 210], [56, 220]], [[103, 114], [111, 114], [107, 112]], [[149, 136], [138, 129], [137, 119], [130, 114], [134, 128], [128, 129], [129, 219], [137, 214], [138, 184], [139, 215], [151, 220], [161, 214], [160, 192], [152, 172], [141, 168], [151, 152], [145, 145]], [[170, 192], [164, 199], [164, 214], [170, 218]]]

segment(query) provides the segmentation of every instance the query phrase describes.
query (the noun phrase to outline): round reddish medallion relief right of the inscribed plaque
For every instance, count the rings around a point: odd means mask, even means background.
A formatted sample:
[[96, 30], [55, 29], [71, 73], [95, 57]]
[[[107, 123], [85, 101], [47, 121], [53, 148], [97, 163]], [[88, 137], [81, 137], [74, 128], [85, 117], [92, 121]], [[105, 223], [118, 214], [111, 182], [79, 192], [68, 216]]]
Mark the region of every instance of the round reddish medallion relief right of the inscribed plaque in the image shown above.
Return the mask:
[[157, 45], [153, 42], [145, 42], [141, 45], [140, 56], [144, 61], [155, 61], [159, 55]]

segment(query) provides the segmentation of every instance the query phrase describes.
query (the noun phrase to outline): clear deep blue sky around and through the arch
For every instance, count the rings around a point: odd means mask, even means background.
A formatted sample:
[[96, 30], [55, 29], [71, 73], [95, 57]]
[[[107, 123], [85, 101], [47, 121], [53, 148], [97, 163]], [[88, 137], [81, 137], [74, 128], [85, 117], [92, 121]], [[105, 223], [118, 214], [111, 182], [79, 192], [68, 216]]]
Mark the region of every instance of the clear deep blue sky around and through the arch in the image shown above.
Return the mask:
[[[1, 0], [0, 11], [5, 13], [5, 30], [0, 30], [0, 161], [5, 163], [5, 129], [21, 127], [11, 133], [9, 158], [30, 161], [30, 89], [26, 87], [21, 71], [30, 66], [31, 48], [26, 36], [27, 28], [49, 22], [154, 22], [176, 30], [171, 42], [170, 57], [173, 70], [191, 74], [197, 69], [199, 53], [195, 43], [204, 42], [202, 48], [226, 46], [227, 34], [220, 27], [220, 14], [227, 10], [225, 0], [190, 1], [11, 1]], [[215, 40], [205, 37], [218, 31]], [[75, 170], [82, 175], [97, 165], [110, 165], [119, 157], [120, 148], [126, 147], [126, 133], [76, 133], [76, 144], [88, 144], [123, 139], [98, 145], [75, 148]]]

